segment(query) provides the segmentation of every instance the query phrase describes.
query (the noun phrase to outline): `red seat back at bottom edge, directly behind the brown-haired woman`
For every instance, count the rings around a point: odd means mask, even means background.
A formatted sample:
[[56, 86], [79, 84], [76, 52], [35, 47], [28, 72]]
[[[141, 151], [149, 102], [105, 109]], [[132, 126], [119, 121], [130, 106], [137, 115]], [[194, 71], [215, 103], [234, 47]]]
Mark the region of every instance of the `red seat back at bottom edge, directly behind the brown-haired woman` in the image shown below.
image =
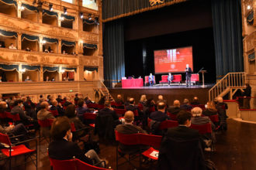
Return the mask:
[[50, 158], [50, 165], [53, 166], [54, 170], [76, 170], [76, 160], [57, 160]]

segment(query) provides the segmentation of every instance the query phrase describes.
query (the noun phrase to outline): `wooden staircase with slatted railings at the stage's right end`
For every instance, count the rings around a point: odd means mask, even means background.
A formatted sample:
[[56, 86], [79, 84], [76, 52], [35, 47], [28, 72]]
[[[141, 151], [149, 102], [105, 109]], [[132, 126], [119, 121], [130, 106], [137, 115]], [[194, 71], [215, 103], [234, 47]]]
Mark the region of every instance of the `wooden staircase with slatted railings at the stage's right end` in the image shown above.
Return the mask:
[[233, 98], [237, 90], [243, 90], [245, 84], [245, 73], [227, 73], [214, 87], [209, 90], [209, 100], [216, 97], [223, 97], [230, 93], [230, 100]]

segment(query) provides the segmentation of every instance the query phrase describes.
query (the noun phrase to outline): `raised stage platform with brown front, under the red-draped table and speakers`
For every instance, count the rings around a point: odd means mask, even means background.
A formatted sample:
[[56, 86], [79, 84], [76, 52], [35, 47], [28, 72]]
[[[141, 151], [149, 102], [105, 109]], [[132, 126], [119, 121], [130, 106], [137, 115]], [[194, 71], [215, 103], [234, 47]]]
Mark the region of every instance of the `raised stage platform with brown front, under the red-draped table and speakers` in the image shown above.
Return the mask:
[[208, 91], [214, 84], [206, 84], [205, 87], [202, 85], [194, 85], [191, 87], [186, 87], [185, 84], [175, 84], [175, 85], [154, 85], [153, 87], [130, 87], [130, 88], [110, 88], [109, 92], [112, 97], [116, 99], [117, 94], [121, 94], [123, 99], [126, 100], [127, 97], [134, 97], [136, 103], [140, 100], [142, 94], [147, 95], [147, 99], [154, 98], [157, 101], [158, 95], [163, 95], [164, 99], [168, 101], [168, 105], [172, 105], [174, 100], [180, 100], [181, 104], [185, 98], [192, 100], [193, 97], [199, 97], [199, 102], [201, 104], [206, 104], [209, 100]]

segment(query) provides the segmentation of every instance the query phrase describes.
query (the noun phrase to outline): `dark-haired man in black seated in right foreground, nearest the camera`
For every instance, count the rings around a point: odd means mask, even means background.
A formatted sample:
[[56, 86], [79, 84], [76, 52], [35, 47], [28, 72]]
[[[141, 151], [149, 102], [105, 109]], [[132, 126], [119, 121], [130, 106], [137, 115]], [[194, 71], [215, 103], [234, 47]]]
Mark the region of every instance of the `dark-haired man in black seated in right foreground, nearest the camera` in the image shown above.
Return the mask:
[[191, 114], [181, 110], [177, 119], [178, 127], [168, 128], [161, 141], [157, 169], [206, 169], [199, 145], [199, 131], [189, 128]]

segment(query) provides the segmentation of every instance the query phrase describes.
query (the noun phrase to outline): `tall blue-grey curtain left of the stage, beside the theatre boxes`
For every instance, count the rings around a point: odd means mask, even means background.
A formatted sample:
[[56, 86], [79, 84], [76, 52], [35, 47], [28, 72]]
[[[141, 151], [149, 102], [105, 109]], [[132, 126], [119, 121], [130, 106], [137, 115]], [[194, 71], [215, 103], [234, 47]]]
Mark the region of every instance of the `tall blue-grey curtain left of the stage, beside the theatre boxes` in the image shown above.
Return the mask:
[[112, 87], [125, 75], [123, 19], [107, 22], [104, 29], [104, 78]]

